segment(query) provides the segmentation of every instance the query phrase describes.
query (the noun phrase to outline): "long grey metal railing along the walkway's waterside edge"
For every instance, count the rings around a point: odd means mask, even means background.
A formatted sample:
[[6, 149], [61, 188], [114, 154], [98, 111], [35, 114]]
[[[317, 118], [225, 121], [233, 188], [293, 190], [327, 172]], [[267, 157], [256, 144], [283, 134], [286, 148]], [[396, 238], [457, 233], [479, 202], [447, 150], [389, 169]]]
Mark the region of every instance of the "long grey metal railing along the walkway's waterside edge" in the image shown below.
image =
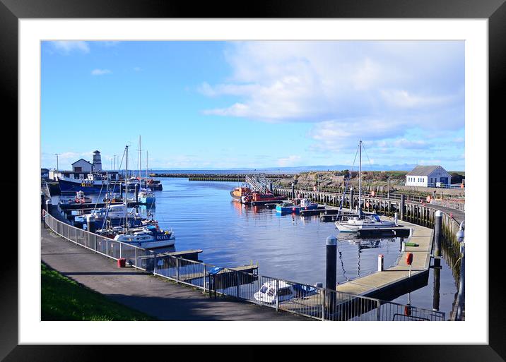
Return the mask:
[[132, 246], [78, 229], [45, 213], [49, 229], [78, 246], [210, 296], [223, 295], [318, 320], [445, 320], [444, 312], [217, 267]]

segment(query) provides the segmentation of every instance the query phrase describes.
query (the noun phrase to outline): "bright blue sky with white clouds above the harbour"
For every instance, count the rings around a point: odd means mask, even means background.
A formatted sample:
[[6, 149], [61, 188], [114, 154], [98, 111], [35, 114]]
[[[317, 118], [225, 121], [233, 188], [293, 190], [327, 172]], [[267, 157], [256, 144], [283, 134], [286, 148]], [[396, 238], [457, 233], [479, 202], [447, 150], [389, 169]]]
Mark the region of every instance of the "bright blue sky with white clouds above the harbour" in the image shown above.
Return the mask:
[[363, 164], [464, 171], [461, 41], [61, 41], [41, 56], [41, 167], [100, 150], [111, 169], [125, 145], [138, 165], [140, 135], [150, 169], [351, 165], [363, 140]]

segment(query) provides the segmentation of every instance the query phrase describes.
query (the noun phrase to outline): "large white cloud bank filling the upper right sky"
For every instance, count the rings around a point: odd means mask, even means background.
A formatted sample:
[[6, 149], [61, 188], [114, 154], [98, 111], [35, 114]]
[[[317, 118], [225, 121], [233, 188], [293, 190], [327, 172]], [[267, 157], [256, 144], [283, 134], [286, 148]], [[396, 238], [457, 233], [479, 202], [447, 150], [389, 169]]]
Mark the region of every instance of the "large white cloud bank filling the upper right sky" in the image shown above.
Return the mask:
[[[204, 114], [271, 122], [404, 118], [423, 127], [464, 124], [463, 42], [232, 42], [225, 59], [230, 77], [204, 82], [199, 91], [237, 99]], [[443, 113], [445, 122], [434, 116]]]

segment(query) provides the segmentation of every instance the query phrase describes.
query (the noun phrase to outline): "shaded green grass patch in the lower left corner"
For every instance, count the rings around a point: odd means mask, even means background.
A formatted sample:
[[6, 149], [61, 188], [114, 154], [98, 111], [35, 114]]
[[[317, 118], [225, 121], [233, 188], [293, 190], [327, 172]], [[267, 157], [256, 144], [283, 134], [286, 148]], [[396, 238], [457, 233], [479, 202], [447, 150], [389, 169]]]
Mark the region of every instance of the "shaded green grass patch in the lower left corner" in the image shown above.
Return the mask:
[[156, 320], [41, 263], [42, 320]]

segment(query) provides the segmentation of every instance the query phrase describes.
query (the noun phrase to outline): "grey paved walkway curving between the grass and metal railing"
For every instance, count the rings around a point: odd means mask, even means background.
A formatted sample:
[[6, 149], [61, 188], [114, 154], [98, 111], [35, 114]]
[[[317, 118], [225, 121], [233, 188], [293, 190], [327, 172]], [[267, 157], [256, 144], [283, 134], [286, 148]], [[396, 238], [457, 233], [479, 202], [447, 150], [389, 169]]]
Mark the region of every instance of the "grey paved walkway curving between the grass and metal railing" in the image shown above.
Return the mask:
[[209, 298], [199, 290], [134, 268], [120, 269], [116, 260], [76, 246], [44, 225], [41, 259], [66, 277], [159, 320], [311, 320], [231, 297]]

